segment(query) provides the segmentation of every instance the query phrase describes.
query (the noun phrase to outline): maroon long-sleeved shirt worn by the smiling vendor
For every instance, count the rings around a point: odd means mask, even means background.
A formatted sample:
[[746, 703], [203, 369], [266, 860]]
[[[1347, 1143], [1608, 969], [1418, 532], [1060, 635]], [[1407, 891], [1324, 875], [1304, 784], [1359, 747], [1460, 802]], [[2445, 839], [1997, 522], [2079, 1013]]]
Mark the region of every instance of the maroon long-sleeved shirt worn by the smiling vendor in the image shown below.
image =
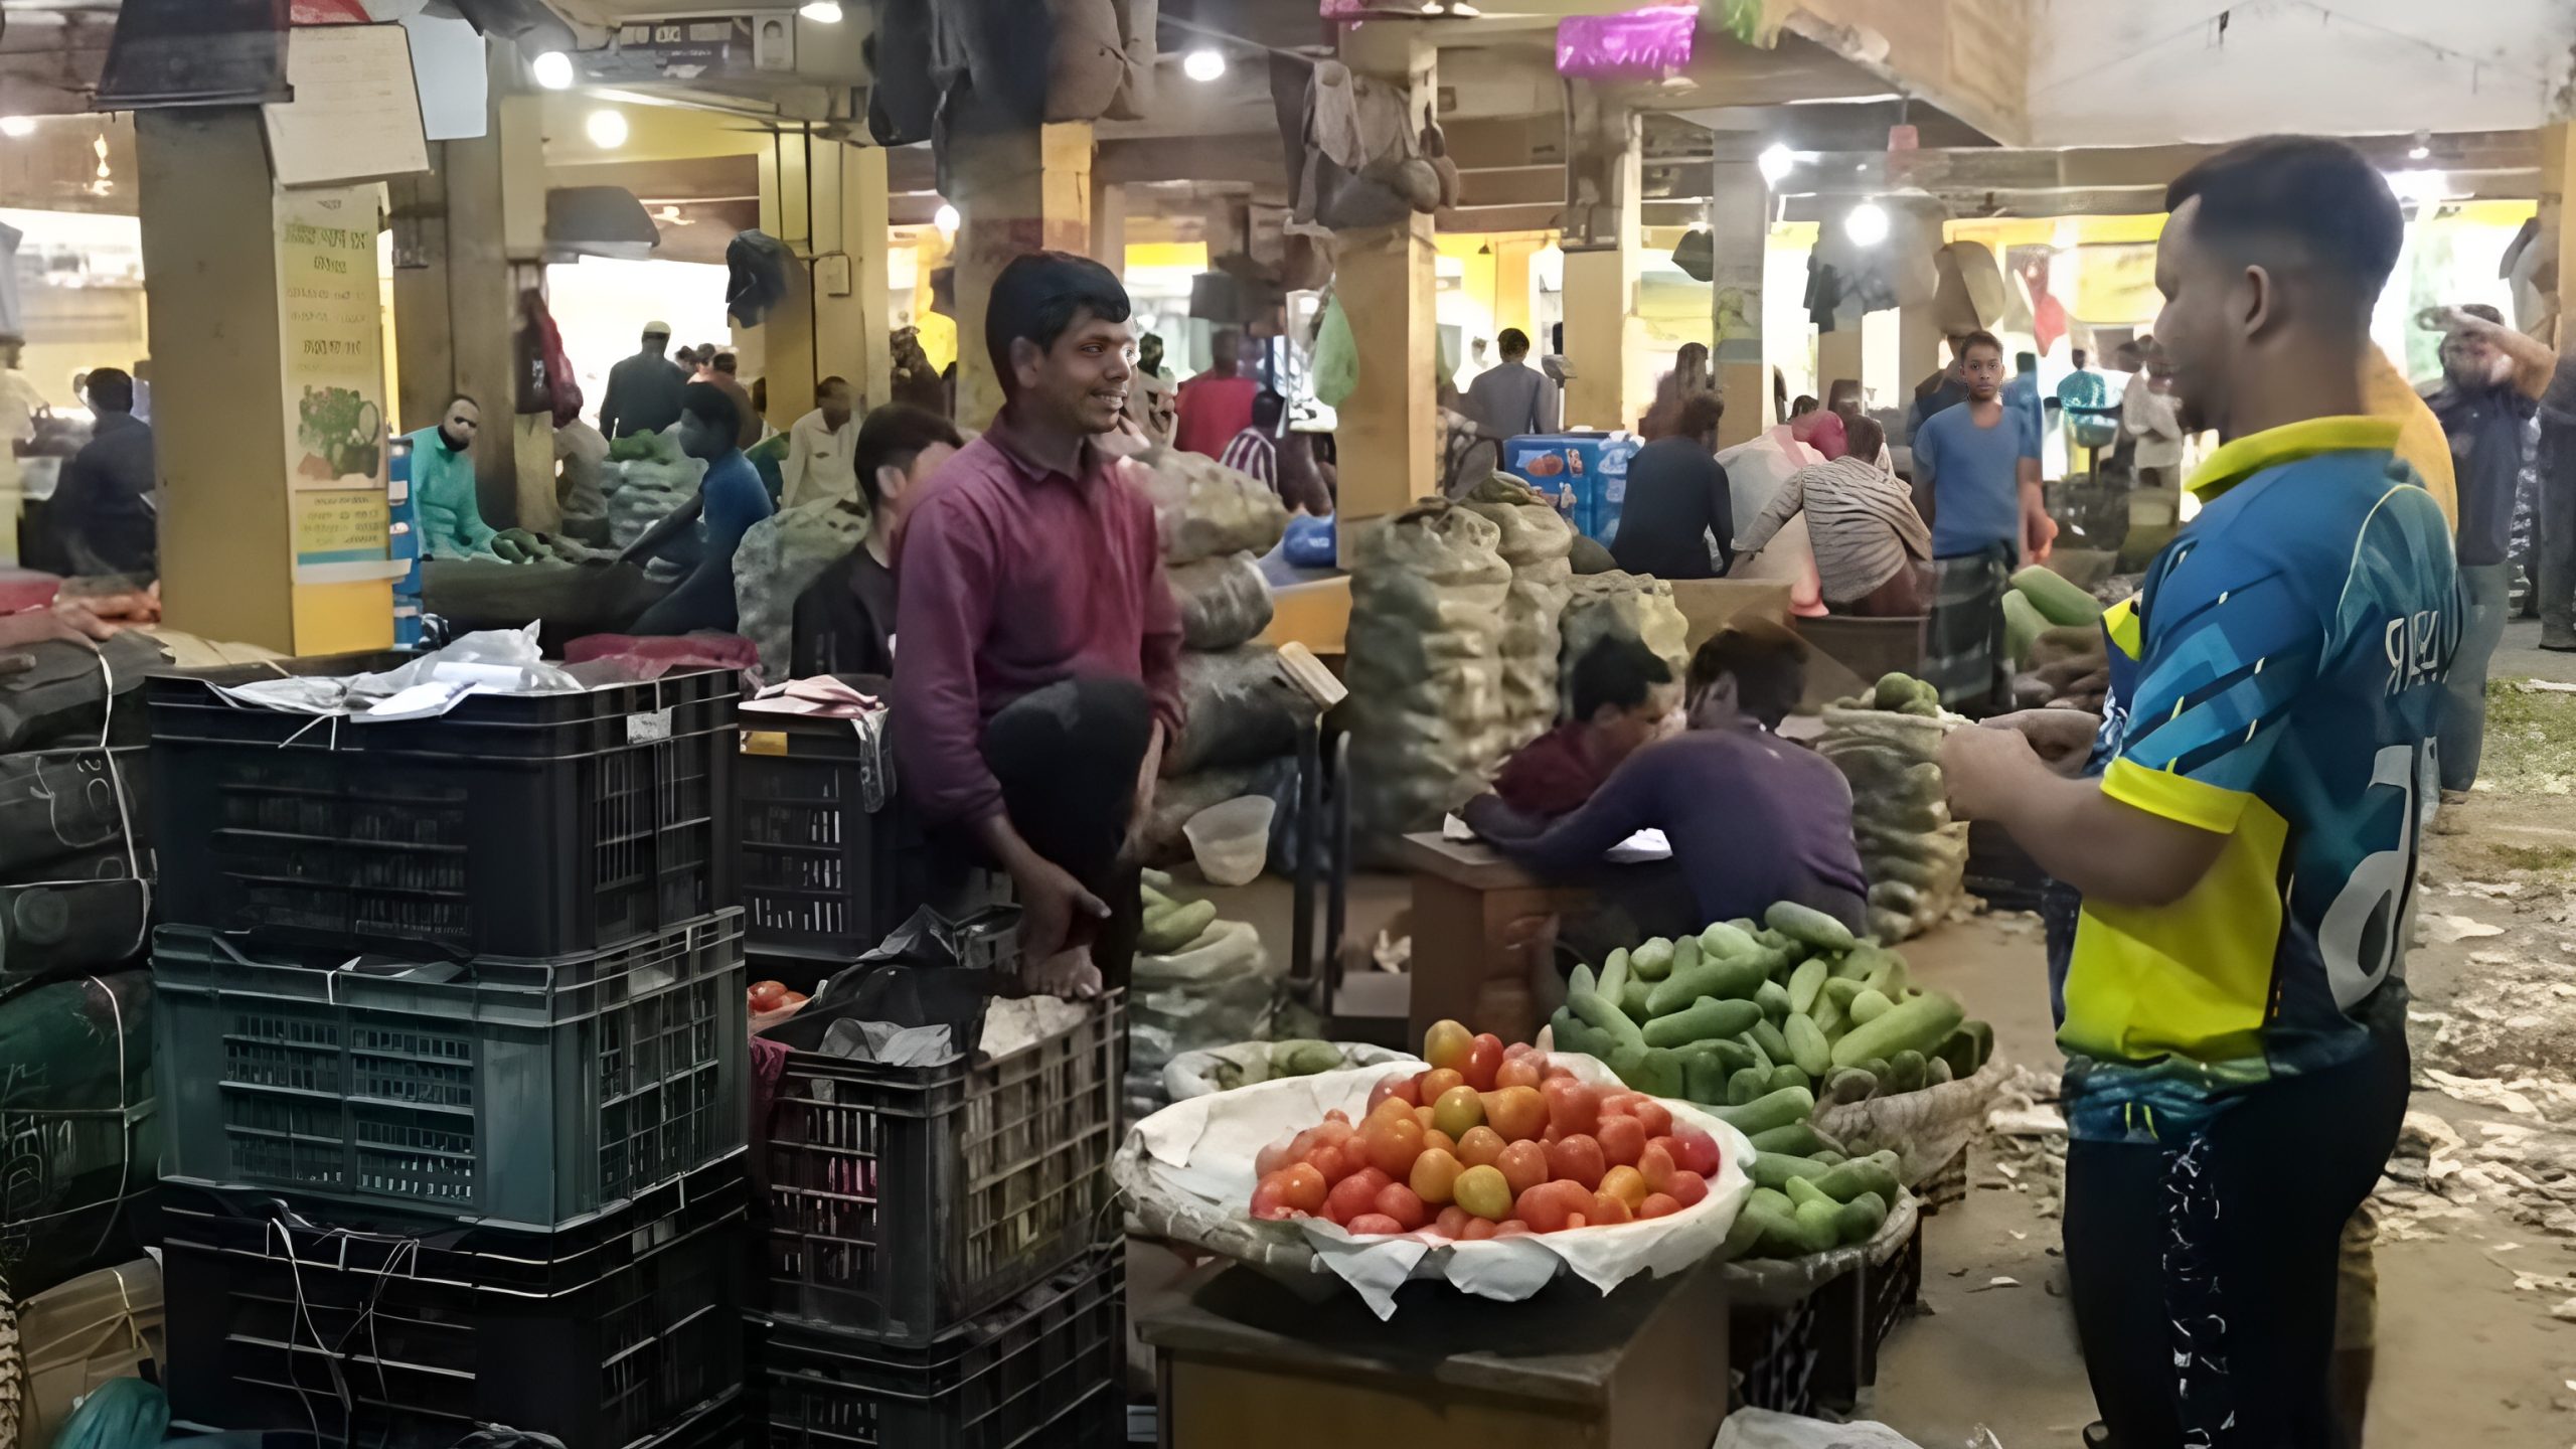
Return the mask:
[[1177, 737], [1180, 606], [1154, 505], [1084, 443], [1033, 459], [1010, 407], [922, 485], [896, 544], [894, 750], [933, 825], [1002, 810], [984, 722], [1064, 678], [1133, 678]]

